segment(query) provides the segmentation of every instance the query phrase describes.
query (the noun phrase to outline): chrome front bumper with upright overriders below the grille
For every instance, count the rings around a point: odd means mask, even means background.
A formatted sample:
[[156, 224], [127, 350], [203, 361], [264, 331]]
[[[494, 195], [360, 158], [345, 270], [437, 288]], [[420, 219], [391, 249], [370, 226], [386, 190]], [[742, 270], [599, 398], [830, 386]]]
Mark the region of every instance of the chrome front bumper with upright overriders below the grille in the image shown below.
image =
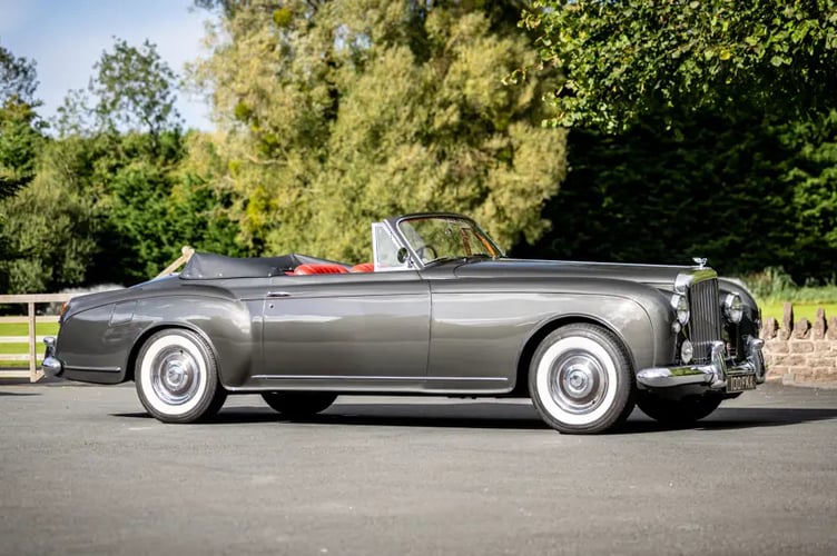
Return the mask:
[[651, 367], [637, 373], [637, 381], [646, 388], [670, 388], [673, 386], [706, 385], [712, 390], [727, 388], [729, 377], [755, 375], [756, 383], [765, 381], [765, 358], [761, 348], [765, 340], [749, 337], [747, 340], [747, 359], [728, 366], [727, 349], [722, 341], [712, 342], [712, 360], [707, 365], [683, 367]]

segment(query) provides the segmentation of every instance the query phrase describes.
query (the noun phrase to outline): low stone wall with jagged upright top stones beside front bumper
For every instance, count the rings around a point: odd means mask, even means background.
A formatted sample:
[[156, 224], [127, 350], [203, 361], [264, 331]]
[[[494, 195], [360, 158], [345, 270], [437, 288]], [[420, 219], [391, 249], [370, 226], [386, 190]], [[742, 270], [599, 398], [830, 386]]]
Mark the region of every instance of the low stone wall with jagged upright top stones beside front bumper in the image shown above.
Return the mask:
[[794, 307], [785, 304], [781, 324], [775, 318], [761, 327], [767, 379], [789, 385], [837, 386], [837, 317], [826, 321], [817, 309], [814, 322], [794, 320]]

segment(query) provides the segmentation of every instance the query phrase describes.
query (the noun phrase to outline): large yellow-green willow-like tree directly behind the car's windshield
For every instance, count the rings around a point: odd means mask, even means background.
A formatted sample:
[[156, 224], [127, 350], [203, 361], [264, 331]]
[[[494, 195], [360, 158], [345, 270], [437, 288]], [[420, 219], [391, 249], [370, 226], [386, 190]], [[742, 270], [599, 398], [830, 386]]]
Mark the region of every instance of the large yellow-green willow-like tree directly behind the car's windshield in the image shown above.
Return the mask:
[[506, 246], [542, 234], [564, 132], [540, 126], [549, 73], [502, 83], [536, 53], [499, 4], [235, 3], [195, 77], [225, 131], [206, 178], [237, 196], [247, 244], [368, 259], [368, 222], [417, 210]]

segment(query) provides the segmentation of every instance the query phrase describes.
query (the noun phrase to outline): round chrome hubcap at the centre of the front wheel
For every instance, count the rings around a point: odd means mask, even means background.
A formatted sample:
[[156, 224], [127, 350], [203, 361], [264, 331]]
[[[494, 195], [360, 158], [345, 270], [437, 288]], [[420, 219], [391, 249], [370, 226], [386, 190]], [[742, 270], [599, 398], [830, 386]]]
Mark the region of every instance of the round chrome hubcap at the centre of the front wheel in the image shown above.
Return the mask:
[[608, 387], [607, 371], [588, 353], [568, 351], [550, 370], [552, 399], [564, 411], [581, 414], [595, 408]]

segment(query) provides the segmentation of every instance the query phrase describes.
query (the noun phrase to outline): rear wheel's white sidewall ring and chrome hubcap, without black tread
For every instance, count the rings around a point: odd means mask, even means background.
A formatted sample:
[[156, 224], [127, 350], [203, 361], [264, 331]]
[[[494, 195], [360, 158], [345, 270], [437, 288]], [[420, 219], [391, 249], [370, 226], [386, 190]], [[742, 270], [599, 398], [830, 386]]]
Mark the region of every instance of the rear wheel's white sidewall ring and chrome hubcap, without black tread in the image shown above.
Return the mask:
[[198, 346], [180, 335], [163, 336], [142, 355], [139, 379], [147, 401], [166, 415], [184, 415], [207, 388], [207, 365]]

